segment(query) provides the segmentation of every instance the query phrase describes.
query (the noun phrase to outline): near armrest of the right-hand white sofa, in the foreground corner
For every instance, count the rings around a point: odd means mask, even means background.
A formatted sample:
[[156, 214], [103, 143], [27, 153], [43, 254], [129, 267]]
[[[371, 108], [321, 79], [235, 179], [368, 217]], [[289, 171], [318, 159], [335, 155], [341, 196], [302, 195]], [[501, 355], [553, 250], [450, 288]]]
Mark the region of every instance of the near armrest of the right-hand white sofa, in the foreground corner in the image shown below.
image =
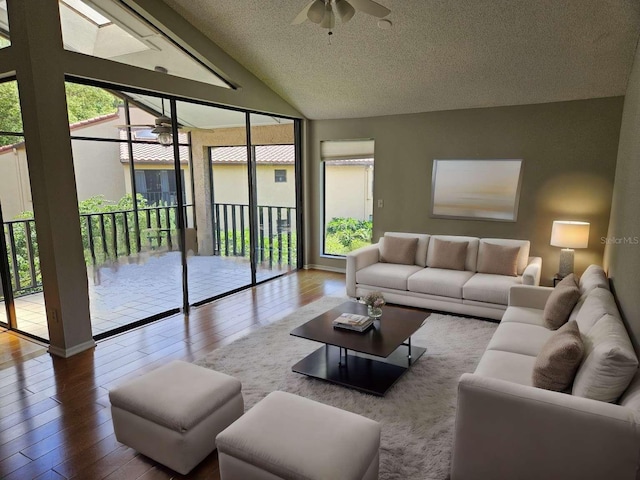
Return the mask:
[[619, 405], [464, 374], [451, 480], [636, 478], [640, 434]]

